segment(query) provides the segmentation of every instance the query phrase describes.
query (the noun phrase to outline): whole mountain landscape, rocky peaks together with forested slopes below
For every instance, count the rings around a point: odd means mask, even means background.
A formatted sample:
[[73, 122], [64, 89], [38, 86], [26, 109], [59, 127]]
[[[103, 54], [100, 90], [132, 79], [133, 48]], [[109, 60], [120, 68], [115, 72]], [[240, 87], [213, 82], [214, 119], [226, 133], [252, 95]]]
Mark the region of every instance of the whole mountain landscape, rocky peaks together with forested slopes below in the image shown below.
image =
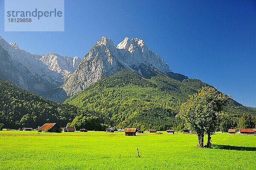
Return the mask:
[[[105, 126], [99, 123], [142, 130], [182, 128], [175, 118], [180, 105], [210, 86], [172, 72], [143, 40], [128, 37], [117, 46], [102, 37], [83, 59], [31, 54], [0, 37], [0, 79], [0, 123], [67, 124], [82, 114], [96, 120], [96, 130]], [[256, 108], [230, 99], [225, 114], [239, 119], [243, 113], [256, 115]]]

